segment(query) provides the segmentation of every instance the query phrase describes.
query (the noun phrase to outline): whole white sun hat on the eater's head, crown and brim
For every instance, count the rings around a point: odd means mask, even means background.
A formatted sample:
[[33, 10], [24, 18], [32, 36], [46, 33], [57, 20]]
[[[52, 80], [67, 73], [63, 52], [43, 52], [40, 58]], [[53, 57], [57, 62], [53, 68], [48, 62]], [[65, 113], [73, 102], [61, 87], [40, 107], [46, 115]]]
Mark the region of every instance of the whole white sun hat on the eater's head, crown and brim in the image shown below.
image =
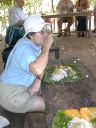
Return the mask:
[[40, 15], [33, 15], [24, 21], [25, 37], [29, 32], [39, 32], [45, 25], [50, 23], [45, 22]]

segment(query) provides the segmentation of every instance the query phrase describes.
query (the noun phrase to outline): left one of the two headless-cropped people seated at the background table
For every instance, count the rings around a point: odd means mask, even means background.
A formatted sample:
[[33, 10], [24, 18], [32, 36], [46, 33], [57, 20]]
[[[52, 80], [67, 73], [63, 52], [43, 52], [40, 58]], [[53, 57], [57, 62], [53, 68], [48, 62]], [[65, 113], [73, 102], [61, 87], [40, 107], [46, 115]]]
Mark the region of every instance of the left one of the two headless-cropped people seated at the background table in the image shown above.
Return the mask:
[[[71, 0], [60, 0], [56, 9], [58, 12], [72, 12], [74, 8], [73, 2]], [[73, 24], [73, 17], [63, 17], [59, 18], [58, 25], [58, 37], [62, 35], [62, 24], [68, 22], [67, 28], [65, 29], [65, 34], [70, 32], [70, 26]]]

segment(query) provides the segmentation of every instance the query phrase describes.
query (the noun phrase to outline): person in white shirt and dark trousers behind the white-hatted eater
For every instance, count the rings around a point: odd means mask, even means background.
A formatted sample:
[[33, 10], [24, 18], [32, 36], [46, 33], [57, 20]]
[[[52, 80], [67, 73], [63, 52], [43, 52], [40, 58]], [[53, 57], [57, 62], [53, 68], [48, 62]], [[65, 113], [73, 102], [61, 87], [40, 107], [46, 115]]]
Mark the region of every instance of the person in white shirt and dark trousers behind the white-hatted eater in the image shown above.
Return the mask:
[[23, 23], [26, 16], [23, 12], [24, 0], [15, 0], [15, 5], [9, 11], [9, 26], [6, 30], [5, 43], [9, 47], [2, 52], [4, 67], [7, 57], [17, 41], [24, 35]]

